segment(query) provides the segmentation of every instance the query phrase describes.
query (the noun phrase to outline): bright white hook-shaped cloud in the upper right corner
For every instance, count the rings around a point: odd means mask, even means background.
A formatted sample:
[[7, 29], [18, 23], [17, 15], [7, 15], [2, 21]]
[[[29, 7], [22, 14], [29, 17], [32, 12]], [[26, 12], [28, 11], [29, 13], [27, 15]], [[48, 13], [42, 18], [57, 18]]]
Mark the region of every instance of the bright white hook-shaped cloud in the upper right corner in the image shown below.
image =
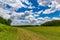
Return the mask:
[[51, 8], [45, 10], [43, 12], [44, 14], [50, 14], [50, 13], [55, 12], [56, 10], [60, 10], [60, 2], [59, 2], [59, 0], [52, 0], [51, 3], [52, 3], [51, 5], [48, 5]]

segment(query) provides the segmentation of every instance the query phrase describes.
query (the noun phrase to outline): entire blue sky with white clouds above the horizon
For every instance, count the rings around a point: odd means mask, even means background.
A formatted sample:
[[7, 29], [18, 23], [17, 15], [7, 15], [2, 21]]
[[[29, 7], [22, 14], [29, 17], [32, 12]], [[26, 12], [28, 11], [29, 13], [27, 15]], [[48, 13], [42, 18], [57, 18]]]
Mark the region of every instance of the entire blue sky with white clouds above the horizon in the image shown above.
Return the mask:
[[60, 20], [60, 0], [0, 0], [0, 16], [11, 19], [11, 25]]

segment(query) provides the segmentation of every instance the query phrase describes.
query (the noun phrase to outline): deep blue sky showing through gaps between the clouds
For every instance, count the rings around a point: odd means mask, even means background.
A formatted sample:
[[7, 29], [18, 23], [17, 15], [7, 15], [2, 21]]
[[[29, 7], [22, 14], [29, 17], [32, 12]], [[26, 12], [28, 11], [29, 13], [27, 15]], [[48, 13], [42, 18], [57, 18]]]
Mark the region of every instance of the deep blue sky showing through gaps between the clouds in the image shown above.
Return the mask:
[[[46, 9], [50, 9], [50, 7], [48, 7], [48, 6], [38, 6], [39, 4], [37, 3], [37, 0], [29, 0], [29, 2], [31, 2], [33, 4], [32, 6], [35, 6], [35, 8], [30, 9], [30, 8], [22, 7], [22, 8], [18, 8], [17, 10], [15, 10], [15, 12], [20, 13], [20, 12], [25, 12], [25, 11], [30, 11], [30, 10], [33, 10], [33, 12], [38, 12], [40, 10], [44, 11]], [[23, 4], [28, 6], [26, 3], [23, 3]], [[6, 5], [7, 5], [6, 8], [8, 8], [8, 9], [11, 8], [10, 5], [8, 5], [8, 4], [6, 4]], [[56, 10], [55, 12], [53, 12], [51, 14], [42, 14], [41, 13], [39, 17], [48, 16], [48, 17], [52, 18], [52, 17], [60, 17], [59, 15], [60, 15], [60, 11]]]

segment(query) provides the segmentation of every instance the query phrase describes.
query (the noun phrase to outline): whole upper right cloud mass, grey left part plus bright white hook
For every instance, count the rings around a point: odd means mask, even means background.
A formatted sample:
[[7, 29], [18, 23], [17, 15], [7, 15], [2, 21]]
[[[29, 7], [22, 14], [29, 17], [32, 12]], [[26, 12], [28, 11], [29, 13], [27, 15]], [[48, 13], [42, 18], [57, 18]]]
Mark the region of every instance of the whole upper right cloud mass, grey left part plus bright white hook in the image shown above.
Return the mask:
[[[50, 5], [50, 2], [52, 3], [51, 5]], [[50, 14], [50, 13], [55, 12], [56, 10], [60, 10], [59, 0], [38, 0], [38, 3], [41, 6], [51, 7], [50, 9], [43, 11], [44, 14]]]

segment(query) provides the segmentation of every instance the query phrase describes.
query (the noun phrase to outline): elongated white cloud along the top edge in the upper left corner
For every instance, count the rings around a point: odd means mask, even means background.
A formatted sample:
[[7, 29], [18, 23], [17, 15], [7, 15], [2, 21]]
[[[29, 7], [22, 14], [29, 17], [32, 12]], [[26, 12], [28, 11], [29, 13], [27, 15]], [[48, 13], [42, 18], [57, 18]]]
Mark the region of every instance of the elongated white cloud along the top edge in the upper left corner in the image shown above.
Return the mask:
[[26, 7], [26, 5], [22, 4], [21, 0], [0, 0], [0, 1], [16, 8]]

